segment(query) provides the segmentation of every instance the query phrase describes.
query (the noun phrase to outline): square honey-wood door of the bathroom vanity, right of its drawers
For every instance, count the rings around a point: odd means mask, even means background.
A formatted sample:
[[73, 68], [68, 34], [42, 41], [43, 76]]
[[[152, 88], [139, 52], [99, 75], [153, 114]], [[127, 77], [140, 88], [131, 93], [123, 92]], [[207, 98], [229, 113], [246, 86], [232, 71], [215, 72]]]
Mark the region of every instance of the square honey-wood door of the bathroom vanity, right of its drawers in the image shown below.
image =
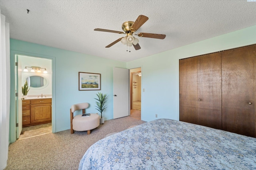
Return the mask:
[[52, 108], [50, 103], [31, 105], [31, 123], [52, 120]]

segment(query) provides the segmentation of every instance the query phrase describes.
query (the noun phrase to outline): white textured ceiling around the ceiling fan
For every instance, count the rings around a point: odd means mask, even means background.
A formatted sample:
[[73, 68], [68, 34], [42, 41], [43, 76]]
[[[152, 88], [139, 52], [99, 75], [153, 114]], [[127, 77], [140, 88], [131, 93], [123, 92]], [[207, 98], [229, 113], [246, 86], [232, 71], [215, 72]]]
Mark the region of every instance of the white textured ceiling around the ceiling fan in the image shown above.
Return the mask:
[[[0, 9], [13, 39], [118, 61], [256, 25], [256, 2], [247, 0], [0, 0]], [[139, 15], [149, 19], [135, 33], [166, 34], [166, 38], [138, 37], [141, 49], [131, 47], [129, 53], [121, 42], [105, 48], [124, 35], [94, 31], [123, 31], [122, 23]]]

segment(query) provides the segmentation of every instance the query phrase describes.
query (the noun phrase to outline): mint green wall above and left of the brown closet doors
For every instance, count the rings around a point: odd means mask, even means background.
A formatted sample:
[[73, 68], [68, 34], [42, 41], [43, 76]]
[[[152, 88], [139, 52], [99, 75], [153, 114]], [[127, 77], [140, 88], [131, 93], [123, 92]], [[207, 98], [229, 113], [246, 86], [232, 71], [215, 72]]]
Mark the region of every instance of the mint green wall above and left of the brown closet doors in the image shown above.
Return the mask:
[[[174, 42], [175, 43], [175, 42]], [[142, 67], [142, 120], [179, 120], [179, 59], [256, 43], [256, 25], [128, 62]]]

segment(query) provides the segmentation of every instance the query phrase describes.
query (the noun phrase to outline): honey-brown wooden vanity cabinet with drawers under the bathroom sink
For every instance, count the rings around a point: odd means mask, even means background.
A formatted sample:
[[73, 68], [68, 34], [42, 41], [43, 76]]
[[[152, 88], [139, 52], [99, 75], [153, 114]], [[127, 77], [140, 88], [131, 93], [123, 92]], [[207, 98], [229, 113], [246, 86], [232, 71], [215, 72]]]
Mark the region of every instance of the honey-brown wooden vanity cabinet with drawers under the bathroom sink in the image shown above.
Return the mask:
[[52, 122], [52, 99], [22, 100], [22, 126]]

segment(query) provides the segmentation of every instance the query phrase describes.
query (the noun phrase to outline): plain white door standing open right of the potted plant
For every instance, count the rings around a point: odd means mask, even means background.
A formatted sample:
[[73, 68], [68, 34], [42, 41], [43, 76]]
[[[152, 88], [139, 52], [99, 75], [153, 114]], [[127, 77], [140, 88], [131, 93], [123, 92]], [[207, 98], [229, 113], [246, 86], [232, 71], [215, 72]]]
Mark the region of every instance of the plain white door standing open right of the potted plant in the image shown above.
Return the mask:
[[129, 115], [129, 70], [116, 68], [113, 70], [114, 84], [114, 119]]

